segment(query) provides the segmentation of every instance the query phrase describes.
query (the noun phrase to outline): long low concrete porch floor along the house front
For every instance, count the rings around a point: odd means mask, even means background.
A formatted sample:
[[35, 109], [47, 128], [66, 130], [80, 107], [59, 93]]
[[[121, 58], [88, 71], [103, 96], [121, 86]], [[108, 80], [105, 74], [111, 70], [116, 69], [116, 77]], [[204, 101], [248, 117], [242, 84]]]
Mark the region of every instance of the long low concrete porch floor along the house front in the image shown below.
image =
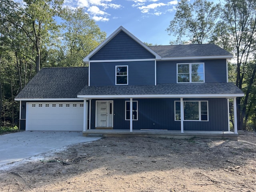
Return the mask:
[[173, 139], [190, 139], [190, 138], [216, 138], [230, 139], [237, 141], [238, 134], [231, 131], [184, 131], [179, 130], [122, 130], [122, 129], [89, 129], [83, 131], [83, 136], [93, 137], [154, 137], [154, 138], [173, 138]]

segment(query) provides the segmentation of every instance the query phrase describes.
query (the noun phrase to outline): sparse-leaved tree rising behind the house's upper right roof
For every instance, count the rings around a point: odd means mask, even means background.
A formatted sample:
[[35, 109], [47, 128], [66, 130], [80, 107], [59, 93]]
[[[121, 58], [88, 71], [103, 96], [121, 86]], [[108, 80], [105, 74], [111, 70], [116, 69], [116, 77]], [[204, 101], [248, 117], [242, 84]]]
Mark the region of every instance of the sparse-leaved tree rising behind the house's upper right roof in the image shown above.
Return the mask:
[[207, 0], [196, 0], [193, 4], [188, 2], [181, 0], [178, 3], [174, 19], [167, 28], [169, 35], [177, 36], [177, 40], [171, 44], [184, 43], [184, 37], [191, 44], [202, 44], [208, 42], [213, 34], [220, 14], [220, 4]]

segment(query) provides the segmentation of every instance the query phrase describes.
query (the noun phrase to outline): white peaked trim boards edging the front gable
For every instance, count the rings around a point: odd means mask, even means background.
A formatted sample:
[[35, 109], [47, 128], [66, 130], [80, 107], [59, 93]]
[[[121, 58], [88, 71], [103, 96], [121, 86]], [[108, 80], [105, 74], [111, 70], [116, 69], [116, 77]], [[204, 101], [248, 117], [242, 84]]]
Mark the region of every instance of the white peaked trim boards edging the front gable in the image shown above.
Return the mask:
[[124, 31], [128, 36], [130, 36], [133, 40], [135, 40], [137, 43], [139, 43], [142, 47], [144, 47], [148, 52], [156, 56], [156, 59], [161, 59], [161, 56], [158, 55], [156, 52], [154, 52], [152, 49], [150, 49], [148, 46], [146, 46], [143, 42], [141, 42], [138, 38], [136, 38], [133, 34], [131, 34], [128, 30], [126, 30], [123, 26], [120, 26], [117, 30], [115, 30], [108, 38], [106, 38], [98, 47], [96, 47], [90, 54], [88, 54], [84, 59], [83, 62], [88, 63], [90, 61], [90, 57], [93, 56], [98, 50], [100, 50], [104, 45], [106, 45], [116, 34], [118, 34], [120, 31]]

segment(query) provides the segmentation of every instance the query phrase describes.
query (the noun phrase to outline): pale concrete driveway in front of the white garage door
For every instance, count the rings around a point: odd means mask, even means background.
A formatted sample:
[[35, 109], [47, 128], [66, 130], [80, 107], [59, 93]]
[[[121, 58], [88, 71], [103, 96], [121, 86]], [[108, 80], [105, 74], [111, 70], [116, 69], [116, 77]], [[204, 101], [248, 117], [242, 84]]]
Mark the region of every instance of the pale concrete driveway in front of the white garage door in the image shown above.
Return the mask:
[[0, 135], [0, 166], [70, 144], [90, 142], [80, 131], [23, 131]]

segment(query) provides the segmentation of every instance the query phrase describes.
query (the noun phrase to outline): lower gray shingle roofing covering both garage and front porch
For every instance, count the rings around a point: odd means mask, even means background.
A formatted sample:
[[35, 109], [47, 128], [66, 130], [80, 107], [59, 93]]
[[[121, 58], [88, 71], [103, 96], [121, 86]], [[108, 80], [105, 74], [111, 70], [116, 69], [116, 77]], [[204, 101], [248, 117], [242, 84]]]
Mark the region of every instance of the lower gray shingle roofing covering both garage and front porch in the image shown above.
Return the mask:
[[234, 83], [185, 83], [150, 86], [90, 86], [88, 67], [43, 68], [16, 99], [77, 98], [78, 95], [243, 94]]

